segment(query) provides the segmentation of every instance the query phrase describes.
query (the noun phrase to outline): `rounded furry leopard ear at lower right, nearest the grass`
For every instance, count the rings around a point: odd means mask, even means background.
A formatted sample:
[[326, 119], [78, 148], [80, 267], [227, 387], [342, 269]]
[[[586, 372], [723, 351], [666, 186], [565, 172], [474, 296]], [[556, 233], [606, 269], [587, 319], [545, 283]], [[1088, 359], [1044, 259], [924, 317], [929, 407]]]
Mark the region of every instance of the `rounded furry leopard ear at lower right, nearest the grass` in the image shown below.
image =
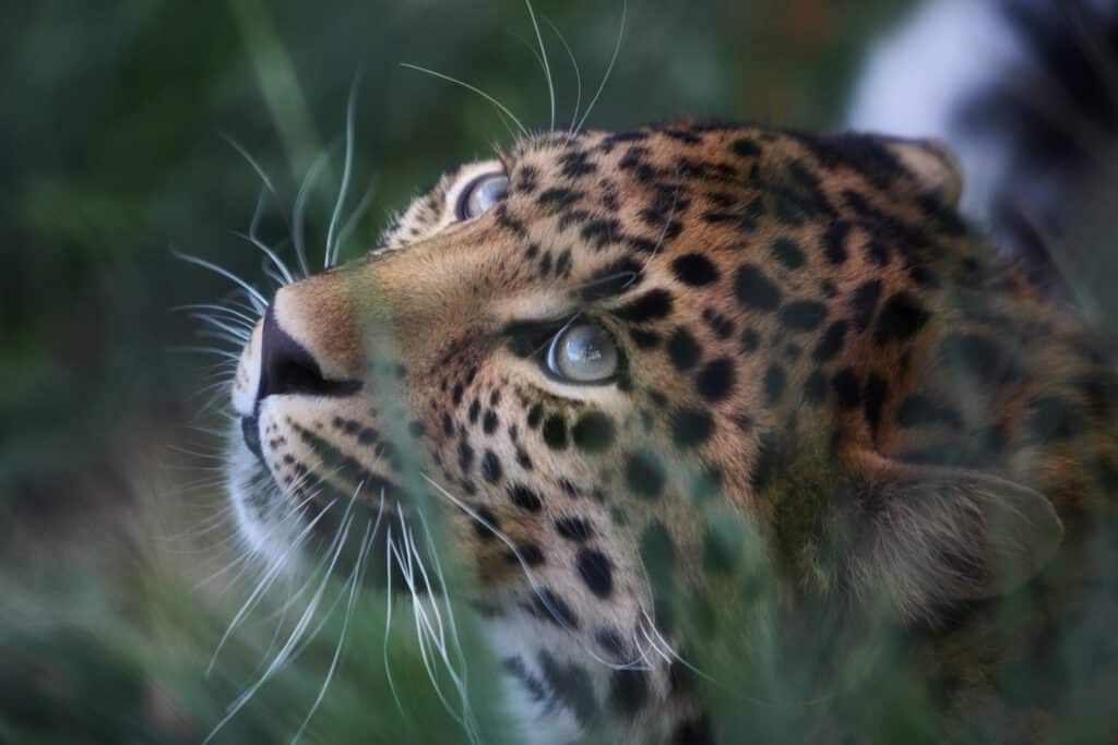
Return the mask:
[[1055, 554], [1063, 524], [1039, 491], [972, 470], [856, 458], [853, 574], [906, 618], [1004, 594]]

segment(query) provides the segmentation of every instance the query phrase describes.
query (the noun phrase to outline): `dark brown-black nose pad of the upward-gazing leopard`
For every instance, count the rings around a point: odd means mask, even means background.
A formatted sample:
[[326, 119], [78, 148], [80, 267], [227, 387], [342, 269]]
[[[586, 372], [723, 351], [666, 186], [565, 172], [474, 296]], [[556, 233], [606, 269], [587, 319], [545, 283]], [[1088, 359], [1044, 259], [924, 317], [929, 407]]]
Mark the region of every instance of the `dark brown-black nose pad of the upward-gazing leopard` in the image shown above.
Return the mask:
[[274, 304], [264, 315], [259, 357], [257, 402], [269, 395], [349, 395], [361, 388], [360, 381], [328, 380], [314, 355], [276, 321]]

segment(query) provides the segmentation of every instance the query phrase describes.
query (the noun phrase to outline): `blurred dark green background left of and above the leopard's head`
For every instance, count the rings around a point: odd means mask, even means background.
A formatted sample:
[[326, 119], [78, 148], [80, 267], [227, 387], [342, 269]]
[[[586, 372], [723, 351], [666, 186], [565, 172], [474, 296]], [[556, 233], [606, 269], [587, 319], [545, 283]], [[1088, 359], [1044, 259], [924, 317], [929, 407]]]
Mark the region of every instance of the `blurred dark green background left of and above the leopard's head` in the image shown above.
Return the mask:
[[[826, 127], [869, 44], [908, 4], [629, 0], [587, 124]], [[585, 108], [622, 3], [536, 8], [563, 122], [577, 92], [563, 44]], [[259, 252], [234, 235], [262, 192], [245, 153], [277, 194], [259, 225], [274, 243], [315, 156], [332, 154], [309, 208], [321, 245], [359, 73], [353, 202], [375, 191], [342, 258], [367, 250], [443, 169], [509, 139], [485, 101], [400, 64], [477, 85], [543, 127], [532, 27], [517, 0], [48, 0], [8, 3], [3, 17], [0, 743], [197, 743], [260, 677], [276, 622], [264, 613], [241, 624], [207, 675], [253, 585], [227, 571], [236, 545], [206, 431], [216, 420], [199, 417], [220, 360], [188, 348], [211, 342], [174, 308], [234, 287], [172, 251], [263, 278]], [[459, 739], [406, 641], [394, 646], [394, 701], [383, 612], [366, 613], [378, 631], [347, 648], [309, 742]], [[291, 741], [330, 665], [337, 634], [322, 637], [214, 742]], [[487, 685], [483, 672], [474, 679]], [[500, 732], [495, 716], [477, 711]]]

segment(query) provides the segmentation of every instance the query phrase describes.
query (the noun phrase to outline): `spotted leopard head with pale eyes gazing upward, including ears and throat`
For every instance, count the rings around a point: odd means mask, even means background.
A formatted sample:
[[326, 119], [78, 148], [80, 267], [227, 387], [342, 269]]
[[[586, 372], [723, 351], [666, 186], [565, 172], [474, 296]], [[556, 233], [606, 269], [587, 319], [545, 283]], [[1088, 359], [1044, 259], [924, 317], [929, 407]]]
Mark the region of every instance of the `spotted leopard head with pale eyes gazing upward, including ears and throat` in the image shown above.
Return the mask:
[[1072, 446], [1101, 414], [1068, 381], [1100, 363], [959, 189], [934, 143], [697, 124], [461, 166], [271, 299], [233, 393], [241, 533], [278, 565], [439, 509], [530, 720], [703, 742], [662, 595], [732, 563], [723, 525], [792, 594], [872, 588], [903, 625], [1031, 580], [1095, 498], [1071, 485], [1112, 441]]

